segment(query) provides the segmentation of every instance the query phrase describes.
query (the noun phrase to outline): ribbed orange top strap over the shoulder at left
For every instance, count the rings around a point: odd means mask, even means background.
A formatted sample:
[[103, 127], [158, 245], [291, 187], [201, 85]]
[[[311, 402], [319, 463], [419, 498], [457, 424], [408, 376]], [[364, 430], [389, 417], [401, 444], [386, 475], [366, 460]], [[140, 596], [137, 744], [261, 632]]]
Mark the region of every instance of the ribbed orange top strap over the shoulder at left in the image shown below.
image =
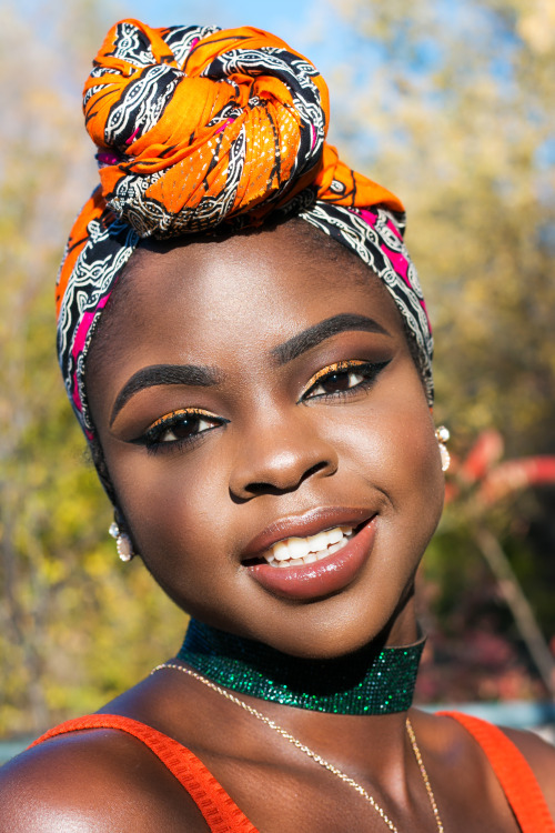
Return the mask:
[[196, 755], [172, 737], [131, 717], [122, 717], [119, 714], [90, 714], [69, 720], [51, 729], [31, 746], [82, 729], [119, 729], [142, 741], [185, 787], [212, 833], [258, 833], [256, 827]]

